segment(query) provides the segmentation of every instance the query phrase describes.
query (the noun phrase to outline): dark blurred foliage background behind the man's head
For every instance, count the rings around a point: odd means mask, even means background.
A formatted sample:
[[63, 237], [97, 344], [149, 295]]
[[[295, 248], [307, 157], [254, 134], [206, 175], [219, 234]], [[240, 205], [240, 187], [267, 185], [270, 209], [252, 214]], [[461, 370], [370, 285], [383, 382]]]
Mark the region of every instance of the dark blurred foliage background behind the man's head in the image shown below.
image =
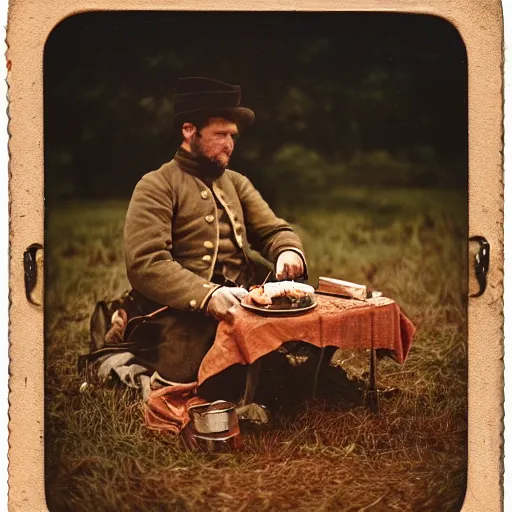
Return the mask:
[[333, 184], [463, 189], [466, 68], [455, 28], [431, 16], [74, 16], [45, 51], [46, 196], [129, 197], [179, 143], [181, 76], [242, 86], [256, 122], [232, 167], [272, 203]]

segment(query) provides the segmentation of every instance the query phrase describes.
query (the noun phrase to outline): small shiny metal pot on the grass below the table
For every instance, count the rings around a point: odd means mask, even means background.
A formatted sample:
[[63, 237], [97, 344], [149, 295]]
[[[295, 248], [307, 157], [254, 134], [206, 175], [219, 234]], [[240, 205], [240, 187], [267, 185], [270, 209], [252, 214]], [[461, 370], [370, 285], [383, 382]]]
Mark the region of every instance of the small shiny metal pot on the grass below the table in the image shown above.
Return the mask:
[[189, 408], [194, 428], [200, 434], [226, 432], [238, 428], [236, 405], [225, 400], [208, 404], [193, 405]]

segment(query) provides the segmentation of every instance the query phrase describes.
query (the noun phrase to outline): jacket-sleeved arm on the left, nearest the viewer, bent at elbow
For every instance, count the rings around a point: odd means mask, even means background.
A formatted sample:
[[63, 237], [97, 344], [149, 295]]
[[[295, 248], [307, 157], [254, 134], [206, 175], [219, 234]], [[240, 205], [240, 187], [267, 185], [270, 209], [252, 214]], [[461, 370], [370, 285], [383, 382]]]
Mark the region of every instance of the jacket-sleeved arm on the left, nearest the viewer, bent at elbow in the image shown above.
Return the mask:
[[218, 286], [173, 260], [172, 196], [170, 184], [158, 172], [145, 175], [135, 187], [124, 226], [128, 279], [159, 304], [199, 310]]

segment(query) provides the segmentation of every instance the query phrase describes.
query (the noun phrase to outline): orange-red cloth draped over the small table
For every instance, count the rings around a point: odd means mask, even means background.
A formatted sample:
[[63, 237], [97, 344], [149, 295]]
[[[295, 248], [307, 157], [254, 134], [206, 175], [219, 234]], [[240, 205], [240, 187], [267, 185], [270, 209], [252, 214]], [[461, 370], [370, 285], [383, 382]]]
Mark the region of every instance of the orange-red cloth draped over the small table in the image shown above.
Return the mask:
[[391, 299], [366, 301], [316, 295], [318, 306], [301, 315], [262, 316], [240, 307], [233, 323], [221, 322], [199, 368], [199, 385], [234, 364], [250, 364], [286, 341], [317, 347], [381, 348], [404, 363], [415, 327]]

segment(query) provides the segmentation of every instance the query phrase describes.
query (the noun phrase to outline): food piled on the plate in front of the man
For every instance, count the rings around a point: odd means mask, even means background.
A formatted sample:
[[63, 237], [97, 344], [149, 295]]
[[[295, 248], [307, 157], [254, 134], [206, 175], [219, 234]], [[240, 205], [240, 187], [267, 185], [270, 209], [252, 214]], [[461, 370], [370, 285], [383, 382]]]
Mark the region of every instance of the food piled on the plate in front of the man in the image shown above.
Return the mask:
[[266, 308], [304, 308], [314, 303], [315, 289], [294, 281], [280, 281], [253, 286], [244, 299], [246, 304]]

